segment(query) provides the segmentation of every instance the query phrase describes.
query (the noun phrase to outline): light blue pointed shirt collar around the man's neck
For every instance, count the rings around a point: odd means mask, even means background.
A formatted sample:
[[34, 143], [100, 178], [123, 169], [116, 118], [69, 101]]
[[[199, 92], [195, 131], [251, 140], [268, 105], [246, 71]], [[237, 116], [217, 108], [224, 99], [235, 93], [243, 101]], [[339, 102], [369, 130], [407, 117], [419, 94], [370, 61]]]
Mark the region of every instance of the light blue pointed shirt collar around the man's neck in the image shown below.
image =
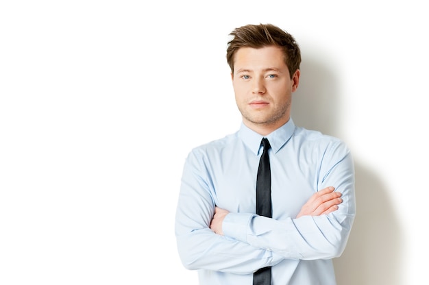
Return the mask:
[[271, 132], [267, 136], [261, 136], [257, 132], [254, 132], [252, 129], [249, 129], [243, 122], [241, 123], [241, 127], [238, 130], [238, 136], [243, 140], [245, 145], [252, 150], [256, 155], [259, 154], [259, 151], [262, 151], [260, 147], [260, 142], [262, 138], [268, 138], [269, 144], [271, 145], [271, 149], [274, 153], [277, 153], [283, 145], [287, 143], [289, 138], [295, 132], [295, 123], [293, 123], [292, 118], [289, 119], [287, 123], [279, 127], [274, 132]]

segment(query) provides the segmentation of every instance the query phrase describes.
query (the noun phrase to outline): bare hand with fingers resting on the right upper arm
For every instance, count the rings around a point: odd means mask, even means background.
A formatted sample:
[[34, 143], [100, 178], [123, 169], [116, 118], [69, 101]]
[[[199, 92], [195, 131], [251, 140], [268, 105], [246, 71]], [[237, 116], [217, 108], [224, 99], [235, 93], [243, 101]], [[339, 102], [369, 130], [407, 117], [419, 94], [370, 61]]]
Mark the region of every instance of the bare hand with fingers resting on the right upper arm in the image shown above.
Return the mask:
[[341, 199], [341, 193], [334, 192], [334, 189], [331, 186], [313, 194], [302, 206], [297, 218], [300, 216], [320, 216], [338, 210], [338, 205], [343, 202], [343, 199]]

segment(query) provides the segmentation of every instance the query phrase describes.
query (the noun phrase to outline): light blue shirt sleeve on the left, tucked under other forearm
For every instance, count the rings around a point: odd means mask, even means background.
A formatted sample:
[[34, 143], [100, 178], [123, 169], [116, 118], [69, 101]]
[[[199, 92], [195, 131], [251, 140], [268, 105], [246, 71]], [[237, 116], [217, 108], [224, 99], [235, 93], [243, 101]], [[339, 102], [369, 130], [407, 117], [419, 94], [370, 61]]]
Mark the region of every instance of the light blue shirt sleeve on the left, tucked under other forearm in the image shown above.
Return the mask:
[[278, 253], [210, 230], [215, 203], [204, 169], [201, 154], [191, 152], [184, 164], [175, 215], [177, 249], [184, 267], [249, 274], [282, 261], [284, 257]]

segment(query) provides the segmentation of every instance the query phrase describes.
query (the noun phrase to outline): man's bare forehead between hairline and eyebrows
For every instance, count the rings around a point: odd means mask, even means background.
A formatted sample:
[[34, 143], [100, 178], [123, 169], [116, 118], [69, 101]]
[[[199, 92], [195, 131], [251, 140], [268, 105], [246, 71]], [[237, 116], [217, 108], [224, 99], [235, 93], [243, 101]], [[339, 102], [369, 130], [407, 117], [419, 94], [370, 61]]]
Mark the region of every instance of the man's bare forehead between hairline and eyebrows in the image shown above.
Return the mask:
[[284, 63], [284, 55], [280, 47], [269, 46], [255, 49], [242, 47], [234, 56], [234, 70], [237, 69], [267, 69], [287, 68]]

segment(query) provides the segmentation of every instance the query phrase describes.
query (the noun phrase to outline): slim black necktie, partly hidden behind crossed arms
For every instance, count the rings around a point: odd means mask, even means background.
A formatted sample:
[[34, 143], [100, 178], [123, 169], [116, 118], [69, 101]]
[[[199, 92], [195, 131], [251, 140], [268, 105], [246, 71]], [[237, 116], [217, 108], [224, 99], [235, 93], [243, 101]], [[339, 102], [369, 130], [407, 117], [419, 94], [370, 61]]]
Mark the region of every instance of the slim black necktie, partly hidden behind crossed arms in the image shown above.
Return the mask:
[[[272, 217], [271, 210], [271, 169], [269, 166], [268, 150], [271, 145], [267, 138], [262, 138], [264, 152], [260, 156], [258, 177], [256, 178], [256, 214]], [[254, 273], [253, 285], [270, 285], [271, 267], [261, 268]]]

